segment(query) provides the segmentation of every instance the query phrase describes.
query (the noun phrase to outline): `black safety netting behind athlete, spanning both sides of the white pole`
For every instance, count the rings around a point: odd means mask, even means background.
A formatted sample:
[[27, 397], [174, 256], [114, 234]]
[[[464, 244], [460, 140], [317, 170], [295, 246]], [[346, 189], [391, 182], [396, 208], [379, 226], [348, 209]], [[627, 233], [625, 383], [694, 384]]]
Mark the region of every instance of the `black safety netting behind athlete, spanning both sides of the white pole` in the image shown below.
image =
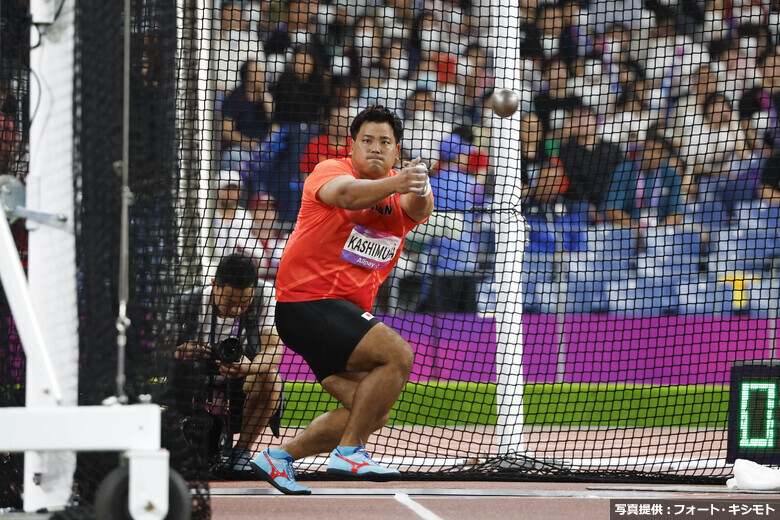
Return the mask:
[[[369, 450], [409, 478], [718, 481], [728, 367], [774, 357], [776, 17], [224, 2], [199, 65], [209, 272], [241, 251], [273, 284], [306, 178], [382, 104], [436, 212], [373, 309], [416, 355]], [[252, 452], [336, 406], [301, 358], [277, 369], [287, 429]]]

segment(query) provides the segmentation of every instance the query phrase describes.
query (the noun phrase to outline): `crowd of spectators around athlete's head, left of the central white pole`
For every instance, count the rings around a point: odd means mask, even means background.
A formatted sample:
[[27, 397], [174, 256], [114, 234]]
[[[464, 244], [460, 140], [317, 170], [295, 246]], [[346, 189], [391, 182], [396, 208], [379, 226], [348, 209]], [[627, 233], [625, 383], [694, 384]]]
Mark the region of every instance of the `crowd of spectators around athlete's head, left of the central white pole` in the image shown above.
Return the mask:
[[[306, 176], [324, 159], [348, 156], [349, 124], [370, 104], [404, 120], [402, 160], [419, 156], [431, 168], [439, 211], [467, 213], [485, 205], [492, 176], [484, 100], [494, 77], [488, 25], [472, 16], [478, 12], [473, 2], [449, 0], [224, 2], [214, 43], [220, 254], [240, 249], [258, 263], [278, 257], [273, 247], [257, 245], [258, 229], [242, 207], [273, 201], [275, 221], [266, 232], [275, 233], [272, 246], [281, 248]], [[238, 182], [239, 191], [226, 190], [228, 182]], [[236, 223], [241, 215], [247, 225]], [[473, 273], [474, 262], [450, 260], [472, 254], [488, 266], [488, 252], [473, 251], [473, 234], [488, 225], [480, 216], [460, 220], [456, 235], [410, 245], [425, 253], [404, 252], [415, 259], [410, 269], [431, 276]], [[466, 297], [476, 302], [476, 284], [467, 285]]]

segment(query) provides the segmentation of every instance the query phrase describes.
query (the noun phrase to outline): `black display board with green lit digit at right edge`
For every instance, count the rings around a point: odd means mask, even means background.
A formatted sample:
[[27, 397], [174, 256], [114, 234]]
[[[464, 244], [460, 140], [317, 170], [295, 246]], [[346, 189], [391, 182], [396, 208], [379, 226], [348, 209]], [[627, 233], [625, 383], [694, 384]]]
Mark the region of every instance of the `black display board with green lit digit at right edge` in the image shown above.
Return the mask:
[[727, 462], [780, 464], [780, 360], [736, 361], [731, 367]]

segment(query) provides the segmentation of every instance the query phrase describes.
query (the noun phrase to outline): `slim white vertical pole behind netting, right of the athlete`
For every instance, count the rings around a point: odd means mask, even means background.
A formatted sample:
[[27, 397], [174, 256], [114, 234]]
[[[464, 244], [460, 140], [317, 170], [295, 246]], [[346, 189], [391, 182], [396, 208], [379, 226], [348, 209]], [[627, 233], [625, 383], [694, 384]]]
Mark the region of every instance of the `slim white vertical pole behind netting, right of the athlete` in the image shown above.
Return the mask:
[[[488, 46], [495, 52], [496, 88], [519, 92], [520, 10], [513, 2], [486, 0], [490, 6]], [[496, 335], [497, 428], [499, 454], [522, 451], [523, 336], [520, 272], [525, 226], [520, 213], [520, 115], [495, 121], [492, 158], [496, 171]]]

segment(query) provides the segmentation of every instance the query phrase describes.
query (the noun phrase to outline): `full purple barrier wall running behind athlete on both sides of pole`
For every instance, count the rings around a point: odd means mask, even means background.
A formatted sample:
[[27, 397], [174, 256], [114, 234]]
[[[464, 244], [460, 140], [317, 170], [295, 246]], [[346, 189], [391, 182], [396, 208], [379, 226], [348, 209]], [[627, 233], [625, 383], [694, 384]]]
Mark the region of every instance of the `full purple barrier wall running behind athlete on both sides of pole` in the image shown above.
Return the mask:
[[[496, 381], [493, 318], [406, 314], [380, 317], [414, 347], [412, 381]], [[704, 316], [571, 315], [563, 323], [565, 362], [559, 367], [555, 315], [523, 316], [528, 383], [725, 384], [738, 359], [772, 355], [765, 319]], [[306, 364], [287, 353], [285, 379], [313, 381]]]

